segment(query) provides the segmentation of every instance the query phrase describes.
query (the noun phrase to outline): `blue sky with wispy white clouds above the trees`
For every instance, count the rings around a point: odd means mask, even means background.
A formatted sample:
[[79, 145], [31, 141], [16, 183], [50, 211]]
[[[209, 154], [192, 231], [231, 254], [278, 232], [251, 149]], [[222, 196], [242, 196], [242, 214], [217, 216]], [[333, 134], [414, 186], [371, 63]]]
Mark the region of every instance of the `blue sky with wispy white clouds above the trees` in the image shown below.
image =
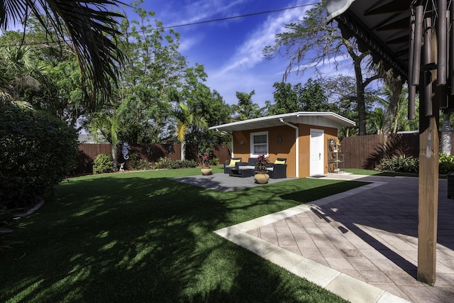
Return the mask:
[[[155, 11], [155, 18], [162, 21], [164, 26], [177, 26], [315, 2], [316, 0], [167, 0], [145, 1], [142, 7], [146, 11]], [[180, 53], [187, 57], [190, 66], [196, 63], [204, 65], [208, 74], [206, 85], [212, 90], [216, 89], [227, 104], [238, 103], [236, 92], [249, 93], [255, 90], [253, 101], [264, 106], [266, 100], [273, 100], [272, 85], [282, 81], [288, 61], [283, 57], [265, 60], [262, 49], [274, 43], [275, 34], [282, 33], [285, 24], [297, 22], [311, 7], [175, 28], [181, 35]], [[351, 65], [348, 58], [344, 61], [347, 66]], [[329, 65], [324, 69], [326, 75], [338, 72]], [[306, 72], [304, 77], [293, 75], [288, 82], [304, 84], [309, 77], [315, 77], [314, 73]]]

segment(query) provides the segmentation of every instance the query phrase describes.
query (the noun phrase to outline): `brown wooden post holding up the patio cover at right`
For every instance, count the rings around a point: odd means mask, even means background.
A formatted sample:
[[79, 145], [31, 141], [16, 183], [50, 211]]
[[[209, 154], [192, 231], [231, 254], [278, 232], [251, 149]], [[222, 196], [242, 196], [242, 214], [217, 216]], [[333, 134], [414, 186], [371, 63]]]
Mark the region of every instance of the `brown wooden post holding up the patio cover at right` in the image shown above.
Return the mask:
[[[436, 61], [436, 33], [432, 33], [432, 62]], [[438, 119], [439, 101], [436, 70], [432, 70], [431, 99], [426, 99], [421, 75], [419, 110], [419, 224], [417, 279], [428, 285], [436, 282], [436, 244], [438, 216]], [[423, 74], [423, 73], [421, 73]], [[432, 103], [431, 116], [426, 116], [426, 102]]]

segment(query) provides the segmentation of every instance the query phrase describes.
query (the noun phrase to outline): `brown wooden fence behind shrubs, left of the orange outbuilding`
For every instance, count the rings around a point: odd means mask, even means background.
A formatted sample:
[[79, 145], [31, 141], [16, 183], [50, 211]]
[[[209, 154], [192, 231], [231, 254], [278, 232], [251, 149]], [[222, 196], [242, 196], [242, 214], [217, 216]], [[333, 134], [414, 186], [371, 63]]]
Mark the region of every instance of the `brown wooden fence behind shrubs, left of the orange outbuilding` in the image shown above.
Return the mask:
[[[129, 153], [138, 153], [140, 158], [149, 162], [157, 162], [160, 158], [169, 158], [170, 160], [181, 159], [181, 143], [175, 144], [131, 144]], [[198, 159], [198, 150], [190, 145], [187, 145], [187, 160]], [[93, 160], [96, 155], [101, 153], [111, 154], [112, 145], [110, 143], [80, 143], [79, 144], [79, 164], [73, 172], [74, 175], [86, 174], [93, 172]], [[219, 163], [230, 159], [230, 152], [226, 144], [217, 145], [213, 149], [214, 157], [218, 158]], [[118, 145], [118, 162], [125, 162], [121, 154], [121, 146]]]

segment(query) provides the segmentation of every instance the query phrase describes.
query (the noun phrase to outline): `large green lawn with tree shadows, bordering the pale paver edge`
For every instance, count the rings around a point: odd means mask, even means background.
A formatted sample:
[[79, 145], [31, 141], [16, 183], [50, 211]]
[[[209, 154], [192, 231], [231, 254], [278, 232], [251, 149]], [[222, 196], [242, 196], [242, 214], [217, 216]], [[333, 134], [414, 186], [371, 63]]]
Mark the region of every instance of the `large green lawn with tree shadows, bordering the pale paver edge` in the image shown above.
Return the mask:
[[[216, 167], [215, 171], [220, 171]], [[362, 182], [300, 179], [236, 192], [169, 180], [200, 169], [77, 177], [0, 253], [0, 302], [343, 302], [212, 231]]]

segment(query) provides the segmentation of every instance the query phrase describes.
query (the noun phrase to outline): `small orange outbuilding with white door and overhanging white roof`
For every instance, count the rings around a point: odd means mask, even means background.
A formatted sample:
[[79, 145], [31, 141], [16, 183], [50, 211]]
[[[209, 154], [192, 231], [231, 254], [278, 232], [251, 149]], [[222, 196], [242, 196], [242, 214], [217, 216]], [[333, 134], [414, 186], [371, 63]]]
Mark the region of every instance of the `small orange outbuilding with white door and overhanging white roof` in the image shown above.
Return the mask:
[[355, 122], [331, 112], [298, 111], [213, 126], [232, 134], [232, 157], [243, 161], [262, 152], [270, 162], [287, 158], [287, 177], [309, 177], [328, 172], [328, 144], [338, 129]]

